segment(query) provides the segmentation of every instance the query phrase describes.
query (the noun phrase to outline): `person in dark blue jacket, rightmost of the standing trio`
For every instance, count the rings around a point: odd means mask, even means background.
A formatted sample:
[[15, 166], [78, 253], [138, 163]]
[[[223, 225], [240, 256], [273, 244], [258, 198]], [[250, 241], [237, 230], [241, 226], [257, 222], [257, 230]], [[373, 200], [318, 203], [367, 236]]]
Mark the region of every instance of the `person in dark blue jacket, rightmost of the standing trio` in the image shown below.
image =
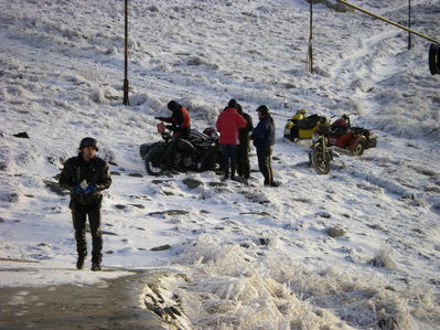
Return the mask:
[[270, 159], [275, 145], [275, 123], [272, 116], [269, 114], [269, 108], [265, 105], [257, 109], [259, 123], [254, 129], [250, 138], [254, 140], [254, 146], [257, 148], [258, 167], [265, 177], [265, 185], [276, 187], [273, 182], [272, 167]]

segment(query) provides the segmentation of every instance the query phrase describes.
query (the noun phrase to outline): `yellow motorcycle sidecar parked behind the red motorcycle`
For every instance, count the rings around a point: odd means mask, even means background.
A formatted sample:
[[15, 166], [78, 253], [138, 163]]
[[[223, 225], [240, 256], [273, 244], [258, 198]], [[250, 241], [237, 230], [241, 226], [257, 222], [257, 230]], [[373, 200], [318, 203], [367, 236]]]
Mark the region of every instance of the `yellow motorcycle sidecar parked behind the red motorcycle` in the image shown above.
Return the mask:
[[285, 126], [285, 138], [297, 141], [298, 139], [311, 139], [313, 132], [321, 125], [330, 125], [329, 120], [319, 115], [307, 116], [305, 109], [300, 109], [288, 119]]

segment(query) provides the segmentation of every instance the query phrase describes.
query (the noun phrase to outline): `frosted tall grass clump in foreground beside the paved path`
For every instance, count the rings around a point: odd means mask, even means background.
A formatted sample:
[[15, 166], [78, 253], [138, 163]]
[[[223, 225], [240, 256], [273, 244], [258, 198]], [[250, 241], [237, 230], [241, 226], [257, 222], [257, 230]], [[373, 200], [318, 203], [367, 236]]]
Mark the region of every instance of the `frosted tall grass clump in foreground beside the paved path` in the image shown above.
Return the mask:
[[258, 255], [203, 235], [174, 253], [172, 264], [184, 266], [184, 276], [164, 276], [159, 287], [163, 296], [179, 297], [170, 304], [195, 329], [417, 329], [423, 311], [440, 316], [430, 292], [337, 266], [305, 267], [276, 248]]

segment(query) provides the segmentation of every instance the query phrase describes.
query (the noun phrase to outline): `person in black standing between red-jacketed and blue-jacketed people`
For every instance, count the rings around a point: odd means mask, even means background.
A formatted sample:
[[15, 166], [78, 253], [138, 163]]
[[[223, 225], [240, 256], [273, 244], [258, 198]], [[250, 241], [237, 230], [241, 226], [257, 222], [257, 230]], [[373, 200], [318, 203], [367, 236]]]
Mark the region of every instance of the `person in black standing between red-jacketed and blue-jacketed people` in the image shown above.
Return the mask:
[[246, 119], [247, 125], [240, 128], [239, 131], [239, 145], [237, 150], [237, 174], [245, 180], [250, 178], [250, 164], [249, 164], [249, 134], [254, 129], [253, 118], [243, 111], [240, 104], [237, 105], [237, 113]]

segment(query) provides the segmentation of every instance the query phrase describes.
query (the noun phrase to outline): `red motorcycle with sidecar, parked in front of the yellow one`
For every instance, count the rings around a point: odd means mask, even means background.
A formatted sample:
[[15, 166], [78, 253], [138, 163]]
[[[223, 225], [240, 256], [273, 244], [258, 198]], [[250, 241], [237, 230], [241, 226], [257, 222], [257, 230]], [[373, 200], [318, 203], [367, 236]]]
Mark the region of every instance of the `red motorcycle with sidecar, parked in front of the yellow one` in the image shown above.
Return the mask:
[[344, 115], [331, 126], [320, 126], [313, 135], [309, 159], [319, 174], [330, 172], [330, 162], [334, 151], [361, 156], [366, 149], [374, 148], [377, 138], [374, 132], [362, 127], [351, 127], [348, 116]]

